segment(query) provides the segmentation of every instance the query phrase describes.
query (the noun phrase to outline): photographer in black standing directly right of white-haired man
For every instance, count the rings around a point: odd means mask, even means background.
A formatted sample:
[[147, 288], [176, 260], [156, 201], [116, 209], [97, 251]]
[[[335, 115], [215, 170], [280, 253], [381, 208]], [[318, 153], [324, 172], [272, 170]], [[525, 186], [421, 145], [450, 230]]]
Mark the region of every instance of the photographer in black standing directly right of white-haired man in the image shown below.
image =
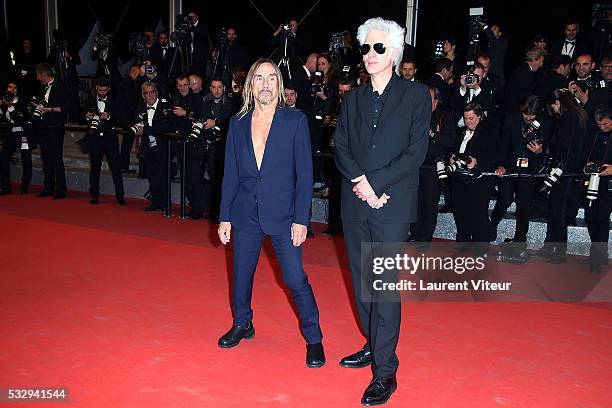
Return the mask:
[[440, 93], [429, 87], [431, 95], [431, 123], [429, 125], [429, 147], [423, 165], [419, 169], [419, 194], [417, 222], [411, 225], [410, 234], [417, 242], [431, 242], [438, 220], [441, 174], [438, 163], [446, 163], [456, 138], [457, 122], [452, 112], [439, 104]]

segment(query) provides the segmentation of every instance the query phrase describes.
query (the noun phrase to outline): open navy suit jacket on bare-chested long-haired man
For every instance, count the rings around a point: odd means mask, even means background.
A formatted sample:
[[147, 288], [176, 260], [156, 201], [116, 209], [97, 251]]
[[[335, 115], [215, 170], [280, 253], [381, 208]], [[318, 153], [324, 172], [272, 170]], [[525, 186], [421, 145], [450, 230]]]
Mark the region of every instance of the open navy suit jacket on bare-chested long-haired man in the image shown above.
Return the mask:
[[230, 121], [225, 148], [220, 220], [247, 225], [257, 208], [261, 229], [279, 235], [292, 223], [308, 225], [312, 200], [312, 151], [306, 116], [277, 108], [257, 169], [251, 139], [253, 112]]

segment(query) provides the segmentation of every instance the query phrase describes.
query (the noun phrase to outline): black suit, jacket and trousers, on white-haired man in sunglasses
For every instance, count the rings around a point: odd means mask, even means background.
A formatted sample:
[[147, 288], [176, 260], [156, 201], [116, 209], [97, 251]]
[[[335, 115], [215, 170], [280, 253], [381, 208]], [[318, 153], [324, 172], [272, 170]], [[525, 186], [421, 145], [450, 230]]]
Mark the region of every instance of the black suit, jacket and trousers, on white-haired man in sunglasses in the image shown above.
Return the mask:
[[[417, 217], [419, 167], [427, 152], [431, 117], [431, 97], [424, 85], [393, 75], [382, 95], [386, 92], [376, 128], [372, 86], [346, 94], [335, 132], [336, 165], [343, 176], [341, 214], [355, 300], [362, 333], [372, 350], [374, 375], [380, 377], [394, 376], [399, 365], [395, 349], [401, 307], [397, 294], [391, 294], [387, 299], [391, 301], [371, 301], [383, 294], [368, 293], [372, 276], [367, 268], [373, 255], [364, 254], [368, 261], [362, 271], [361, 246], [408, 238], [410, 223]], [[391, 197], [382, 208], [372, 209], [353, 193], [351, 180], [362, 175], [377, 197], [383, 193]], [[380, 250], [374, 245], [369, 248]], [[388, 279], [397, 277], [397, 271], [388, 272]]]

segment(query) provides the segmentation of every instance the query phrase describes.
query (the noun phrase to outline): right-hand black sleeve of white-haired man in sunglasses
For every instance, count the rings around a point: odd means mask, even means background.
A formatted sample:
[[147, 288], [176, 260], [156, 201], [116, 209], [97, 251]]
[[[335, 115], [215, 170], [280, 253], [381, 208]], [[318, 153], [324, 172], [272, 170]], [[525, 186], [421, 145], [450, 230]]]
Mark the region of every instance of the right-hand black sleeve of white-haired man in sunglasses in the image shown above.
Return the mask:
[[366, 177], [377, 196], [408, 175], [418, 171], [428, 147], [429, 123], [431, 120], [431, 97], [427, 88], [422, 87], [415, 101], [415, 112], [410, 123], [410, 141], [406, 148], [385, 166], [376, 169]]

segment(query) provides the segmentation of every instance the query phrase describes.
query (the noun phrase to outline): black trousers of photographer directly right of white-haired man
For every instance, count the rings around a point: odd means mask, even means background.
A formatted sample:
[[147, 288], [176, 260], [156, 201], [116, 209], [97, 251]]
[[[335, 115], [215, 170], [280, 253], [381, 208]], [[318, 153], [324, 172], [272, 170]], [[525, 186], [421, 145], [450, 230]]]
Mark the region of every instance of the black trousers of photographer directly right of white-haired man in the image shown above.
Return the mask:
[[418, 242], [431, 242], [438, 222], [440, 181], [435, 169], [419, 169], [419, 200], [417, 222], [412, 224], [412, 238]]

